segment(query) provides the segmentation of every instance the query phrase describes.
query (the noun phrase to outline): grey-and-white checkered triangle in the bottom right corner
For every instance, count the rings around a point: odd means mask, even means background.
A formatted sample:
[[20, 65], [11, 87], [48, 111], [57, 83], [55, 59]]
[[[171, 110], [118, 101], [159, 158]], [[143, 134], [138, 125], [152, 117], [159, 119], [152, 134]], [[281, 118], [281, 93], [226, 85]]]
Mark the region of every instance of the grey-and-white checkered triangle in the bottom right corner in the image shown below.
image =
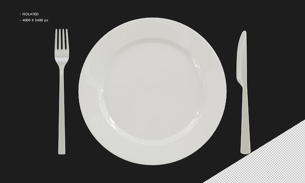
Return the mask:
[[204, 183], [305, 183], [305, 120]]

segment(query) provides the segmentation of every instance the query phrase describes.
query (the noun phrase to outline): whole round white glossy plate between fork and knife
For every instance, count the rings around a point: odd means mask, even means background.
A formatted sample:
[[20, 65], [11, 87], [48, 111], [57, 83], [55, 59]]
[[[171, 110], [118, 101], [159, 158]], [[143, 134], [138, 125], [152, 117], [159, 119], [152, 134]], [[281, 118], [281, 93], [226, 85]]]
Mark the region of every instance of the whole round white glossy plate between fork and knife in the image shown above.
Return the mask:
[[105, 34], [86, 58], [78, 92], [96, 140], [143, 165], [172, 163], [201, 148], [221, 120], [227, 95], [210, 44], [164, 18], [136, 19]]

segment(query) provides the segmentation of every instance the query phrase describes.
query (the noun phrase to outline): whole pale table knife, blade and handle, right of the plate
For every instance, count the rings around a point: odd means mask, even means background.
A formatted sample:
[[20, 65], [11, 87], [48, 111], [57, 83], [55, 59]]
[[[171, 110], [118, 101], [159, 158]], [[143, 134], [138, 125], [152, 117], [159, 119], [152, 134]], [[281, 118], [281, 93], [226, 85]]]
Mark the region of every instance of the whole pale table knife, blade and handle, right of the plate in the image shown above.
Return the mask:
[[242, 154], [248, 154], [251, 152], [251, 147], [250, 147], [250, 129], [249, 129], [249, 112], [248, 112], [247, 32], [246, 31], [243, 31], [242, 34], [240, 35], [237, 46], [236, 79], [238, 83], [243, 87], [240, 152]]

